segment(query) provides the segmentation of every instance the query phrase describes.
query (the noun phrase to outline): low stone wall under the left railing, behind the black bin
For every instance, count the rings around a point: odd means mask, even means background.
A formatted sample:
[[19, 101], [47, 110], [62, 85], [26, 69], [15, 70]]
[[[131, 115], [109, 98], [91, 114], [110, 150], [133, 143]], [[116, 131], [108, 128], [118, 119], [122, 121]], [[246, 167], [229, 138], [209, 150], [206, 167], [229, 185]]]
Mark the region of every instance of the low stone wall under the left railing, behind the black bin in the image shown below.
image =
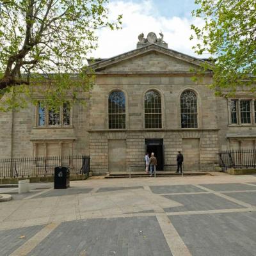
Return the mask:
[[[81, 174], [72, 174], [70, 175], [70, 180], [86, 180], [87, 175]], [[53, 176], [44, 176], [44, 177], [24, 177], [24, 178], [6, 178], [0, 179], [0, 184], [18, 184], [19, 180], [30, 180], [30, 183], [36, 182], [54, 182]]]

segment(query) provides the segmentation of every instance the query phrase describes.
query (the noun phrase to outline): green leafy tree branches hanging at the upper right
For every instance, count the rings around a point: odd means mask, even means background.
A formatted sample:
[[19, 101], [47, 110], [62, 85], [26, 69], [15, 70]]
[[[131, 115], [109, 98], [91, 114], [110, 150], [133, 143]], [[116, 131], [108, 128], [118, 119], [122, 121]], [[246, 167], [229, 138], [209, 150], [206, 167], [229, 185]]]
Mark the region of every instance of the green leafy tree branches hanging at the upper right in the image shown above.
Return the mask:
[[[199, 4], [193, 16], [204, 19], [203, 28], [191, 25], [200, 43], [194, 49], [214, 56], [212, 87], [217, 94], [239, 90], [255, 92], [256, 77], [256, 1], [195, 0]], [[213, 58], [212, 58], [213, 60]]]

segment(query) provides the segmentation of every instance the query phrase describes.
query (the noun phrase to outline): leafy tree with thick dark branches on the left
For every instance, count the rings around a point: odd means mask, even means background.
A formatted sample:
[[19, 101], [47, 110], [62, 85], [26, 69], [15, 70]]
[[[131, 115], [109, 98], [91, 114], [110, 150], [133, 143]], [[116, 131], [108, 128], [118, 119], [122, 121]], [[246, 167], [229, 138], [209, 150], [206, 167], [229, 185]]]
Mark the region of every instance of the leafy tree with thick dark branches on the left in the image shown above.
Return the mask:
[[122, 15], [109, 21], [106, 3], [0, 0], [2, 110], [26, 106], [38, 92], [48, 103], [60, 103], [67, 92], [76, 100], [79, 92], [89, 90], [93, 76], [83, 67], [88, 52], [97, 47], [95, 30], [121, 25]]

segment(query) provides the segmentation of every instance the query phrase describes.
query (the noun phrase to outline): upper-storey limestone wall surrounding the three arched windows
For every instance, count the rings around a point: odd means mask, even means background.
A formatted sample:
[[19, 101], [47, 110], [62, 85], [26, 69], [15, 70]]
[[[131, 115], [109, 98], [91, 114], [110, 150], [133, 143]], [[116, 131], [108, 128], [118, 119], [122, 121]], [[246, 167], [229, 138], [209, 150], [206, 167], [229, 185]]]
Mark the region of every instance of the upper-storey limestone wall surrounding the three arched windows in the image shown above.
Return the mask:
[[163, 129], [179, 129], [180, 94], [193, 90], [198, 101], [198, 128], [216, 129], [217, 102], [214, 93], [207, 88], [210, 79], [200, 84], [186, 76], [98, 76], [92, 92], [90, 109], [90, 129], [108, 129], [108, 97], [113, 90], [122, 90], [126, 100], [126, 129], [143, 129], [144, 95], [148, 90], [156, 90], [161, 95]]

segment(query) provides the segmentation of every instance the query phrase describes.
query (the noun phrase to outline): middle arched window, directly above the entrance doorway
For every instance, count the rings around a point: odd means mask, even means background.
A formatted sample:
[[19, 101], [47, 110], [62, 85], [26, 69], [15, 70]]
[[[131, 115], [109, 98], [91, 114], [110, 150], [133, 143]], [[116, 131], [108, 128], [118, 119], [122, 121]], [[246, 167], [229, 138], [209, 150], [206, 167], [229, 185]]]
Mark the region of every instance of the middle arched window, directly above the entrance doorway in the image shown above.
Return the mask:
[[156, 91], [145, 94], [145, 128], [162, 128], [161, 96]]

